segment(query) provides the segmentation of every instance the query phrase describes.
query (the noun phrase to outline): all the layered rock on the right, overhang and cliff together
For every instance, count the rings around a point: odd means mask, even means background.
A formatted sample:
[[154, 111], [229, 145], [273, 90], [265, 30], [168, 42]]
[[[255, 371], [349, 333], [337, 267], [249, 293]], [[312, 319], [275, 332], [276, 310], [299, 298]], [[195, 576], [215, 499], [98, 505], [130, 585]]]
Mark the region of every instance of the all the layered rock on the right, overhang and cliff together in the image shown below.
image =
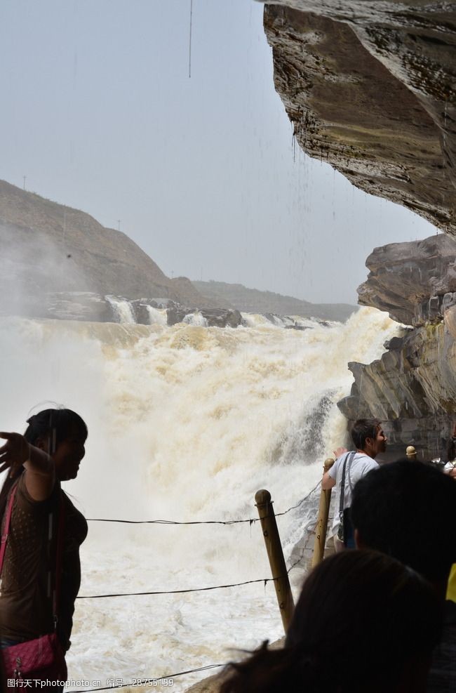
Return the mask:
[[[359, 303], [405, 325], [373, 364], [349, 364], [349, 423], [382, 420], [391, 456], [445, 456], [456, 420], [456, 6], [275, 0], [274, 83], [295, 138], [356, 187], [445, 234], [370, 255]], [[362, 338], [362, 336], [360, 336]]]

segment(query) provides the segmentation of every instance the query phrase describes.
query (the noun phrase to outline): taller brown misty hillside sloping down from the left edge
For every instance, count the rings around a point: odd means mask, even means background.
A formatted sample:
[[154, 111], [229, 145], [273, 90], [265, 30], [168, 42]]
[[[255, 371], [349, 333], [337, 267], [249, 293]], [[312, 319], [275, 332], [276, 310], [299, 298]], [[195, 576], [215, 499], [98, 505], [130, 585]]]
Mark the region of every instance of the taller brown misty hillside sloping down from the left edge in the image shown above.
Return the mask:
[[0, 290], [25, 296], [93, 291], [208, 305], [189, 279], [170, 279], [128, 236], [0, 180]]

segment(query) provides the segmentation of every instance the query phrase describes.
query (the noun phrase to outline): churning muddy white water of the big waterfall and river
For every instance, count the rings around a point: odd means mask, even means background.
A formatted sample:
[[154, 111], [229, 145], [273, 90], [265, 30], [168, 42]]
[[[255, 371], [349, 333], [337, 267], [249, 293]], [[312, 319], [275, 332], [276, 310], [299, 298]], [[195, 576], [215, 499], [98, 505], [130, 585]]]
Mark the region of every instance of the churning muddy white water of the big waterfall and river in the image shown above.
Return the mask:
[[[368, 363], [398, 325], [374, 309], [346, 324], [307, 329], [244, 316], [250, 326], [208, 328], [1, 319], [3, 430], [49, 402], [88, 423], [86, 458], [67, 493], [89, 518], [232, 520], [257, 516], [271, 491], [276, 513], [321, 477], [345, 440], [336, 402], [347, 362]], [[34, 408], [34, 409], [33, 409]], [[289, 561], [315, 503], [278, 518]], [[89, 522], [80, 597], [187, 590], [269, 578], [259, 524]], [[302, 573], [292, 571], [295, 592]], [[272, 583], [193, 593], [76, 600], [69, 678], [159, 678], [219, 664], [233, 649], [281, 635]], [[175, 693], [201, 675], [176, 678]]]

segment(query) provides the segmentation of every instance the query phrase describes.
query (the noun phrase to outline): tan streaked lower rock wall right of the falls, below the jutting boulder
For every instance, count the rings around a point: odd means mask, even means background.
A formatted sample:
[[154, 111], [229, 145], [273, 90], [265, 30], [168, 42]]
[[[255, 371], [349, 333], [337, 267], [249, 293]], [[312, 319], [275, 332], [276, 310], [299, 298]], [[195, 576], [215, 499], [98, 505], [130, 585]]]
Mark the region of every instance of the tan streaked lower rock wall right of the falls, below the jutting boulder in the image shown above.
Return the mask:
[[[456, 306], [450, 309], [456, 324]], [[380, 418], [389, 438], [388, 457], [403, 457], [414, 445], [419, 458], [445, 458], [456, 418], [455, 337], [440, 324], [406, 331], [371, 364], [350, 363], [354, 384], [338, 403], [349, 425], [356, 418]]]

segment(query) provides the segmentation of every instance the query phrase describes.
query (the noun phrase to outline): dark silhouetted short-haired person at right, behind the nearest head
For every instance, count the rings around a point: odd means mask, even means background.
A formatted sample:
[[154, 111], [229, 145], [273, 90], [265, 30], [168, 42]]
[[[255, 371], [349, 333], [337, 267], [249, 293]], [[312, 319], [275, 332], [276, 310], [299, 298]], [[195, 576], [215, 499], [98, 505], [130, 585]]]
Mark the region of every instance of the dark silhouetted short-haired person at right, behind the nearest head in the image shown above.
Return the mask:
[[358, 481], [351, 503], [356, 544], [394, 556], [420, 572], [444, 609], [443, 633], [428, 693], [456, 690], [456, 604], [445, 601], [456, 562], [456, 482], [431, 463], [399, 461]]

